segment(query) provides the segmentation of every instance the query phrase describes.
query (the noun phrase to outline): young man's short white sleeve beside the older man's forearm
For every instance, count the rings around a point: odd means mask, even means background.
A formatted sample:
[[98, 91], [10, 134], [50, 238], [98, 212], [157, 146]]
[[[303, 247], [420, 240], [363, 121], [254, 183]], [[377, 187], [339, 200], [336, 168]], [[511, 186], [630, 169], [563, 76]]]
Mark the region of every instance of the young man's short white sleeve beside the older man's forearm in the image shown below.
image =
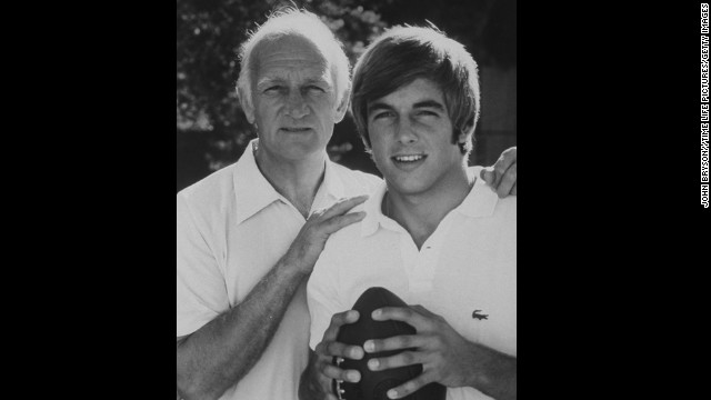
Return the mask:
[[346, 311], [337, 291], [338, 261], [330, 243], [331, 241], [327, 242], [307, 284], [307, 301], [311, 314], [309, 347], [312, 350], [323, 339], [323, 332], [331, 323], [331, 317], [337, 312]]

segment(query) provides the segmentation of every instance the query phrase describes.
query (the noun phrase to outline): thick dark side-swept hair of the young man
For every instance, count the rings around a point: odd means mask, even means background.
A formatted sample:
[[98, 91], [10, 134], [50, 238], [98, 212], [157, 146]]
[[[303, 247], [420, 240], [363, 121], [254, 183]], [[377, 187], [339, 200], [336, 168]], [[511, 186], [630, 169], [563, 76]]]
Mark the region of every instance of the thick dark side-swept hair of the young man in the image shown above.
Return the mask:
[[465, 133], [467, 141], [460, 149], [469, 154], [480, 112], [477, 62], [461, 43], [434, 26], [393, 27], [373, 41], [356, 63], [351, 111], [365, 149], [370, 151], [368, 102], [418, 78], [427, 78], [442, 90], [454, 130], [452, 143]]

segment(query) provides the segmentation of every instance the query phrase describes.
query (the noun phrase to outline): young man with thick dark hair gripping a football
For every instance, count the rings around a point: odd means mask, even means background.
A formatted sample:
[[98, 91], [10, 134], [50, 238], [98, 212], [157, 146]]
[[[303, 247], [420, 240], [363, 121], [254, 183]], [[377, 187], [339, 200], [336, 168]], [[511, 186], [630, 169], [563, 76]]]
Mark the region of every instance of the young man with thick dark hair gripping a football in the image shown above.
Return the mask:
[[[371, 359], [372, 371], [422, 364], [392, 390], [408, 396], [430, 382], [448, 399], [515, 399], [517, 199], [499, 199], [467, 167], [479, 118], [477, 64], [467, 50], [429, 28], [397, 27], [369, 46], [353, 72], [352, 111], [385, 182], [357, 210], [362, 221], [331, 236], [309, 279], [310, 366], [300, 396], [334, 398], [331, 380], [360, 380], [333, 357], [403, 350]], [[382, 308], [414, 336], [336, 341], [359, 317], [348, 311], [371, 287], [408, 308]]]

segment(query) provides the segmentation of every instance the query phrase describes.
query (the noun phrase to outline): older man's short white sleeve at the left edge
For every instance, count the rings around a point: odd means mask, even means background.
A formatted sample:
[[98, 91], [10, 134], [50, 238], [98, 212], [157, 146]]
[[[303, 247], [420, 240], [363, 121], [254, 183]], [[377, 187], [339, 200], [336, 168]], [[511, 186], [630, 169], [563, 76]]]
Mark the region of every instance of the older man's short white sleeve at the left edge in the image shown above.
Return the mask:
[[[224, 276], [186, 198], [177, 202], [178, 337], [190, 334], [229, 309]], [[202, 229], [201, 229], [202, 227]]]

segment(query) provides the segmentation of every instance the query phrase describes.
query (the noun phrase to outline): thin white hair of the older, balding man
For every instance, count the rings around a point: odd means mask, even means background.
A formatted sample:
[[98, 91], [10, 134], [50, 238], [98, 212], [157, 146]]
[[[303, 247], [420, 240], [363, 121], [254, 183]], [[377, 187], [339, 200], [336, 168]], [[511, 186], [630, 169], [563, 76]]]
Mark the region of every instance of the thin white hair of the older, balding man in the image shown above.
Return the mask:
[[311, 40], [329, 62], [336, 78], [337, 104], [339, 104], [347, 90], [350, 89], [350, 63], [343, 52], [343, 44], [319, 17], [293, 7], [281, 8], [272, 12], [267, 22], [250, 32], [247, 41], [240, 47], [241, 69], [237, 80], [238, 96], [244, 96], [246, 98], [241, 100], [252, 107], [252, 78], [254, 73], [252, 50], [254, 47], [263, 39], [273, 40], [291, 34]]

